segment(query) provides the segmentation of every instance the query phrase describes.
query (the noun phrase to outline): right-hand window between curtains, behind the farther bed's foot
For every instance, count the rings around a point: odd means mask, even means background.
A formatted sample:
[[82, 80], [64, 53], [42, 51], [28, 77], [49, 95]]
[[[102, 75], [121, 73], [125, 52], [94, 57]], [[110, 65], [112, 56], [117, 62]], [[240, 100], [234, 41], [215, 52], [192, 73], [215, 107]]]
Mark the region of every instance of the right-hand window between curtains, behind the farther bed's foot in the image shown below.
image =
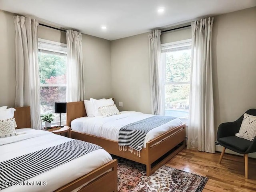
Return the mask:
[[191, 39], [161, 45], [164, 114], [188, 122]]

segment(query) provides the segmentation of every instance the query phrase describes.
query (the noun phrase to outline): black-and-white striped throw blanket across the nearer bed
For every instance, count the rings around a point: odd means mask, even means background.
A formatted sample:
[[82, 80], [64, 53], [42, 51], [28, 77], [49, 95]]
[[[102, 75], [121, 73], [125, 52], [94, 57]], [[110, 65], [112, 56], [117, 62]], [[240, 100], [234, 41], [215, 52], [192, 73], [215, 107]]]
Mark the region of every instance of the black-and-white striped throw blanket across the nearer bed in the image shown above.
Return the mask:
[[[0, 162], [0, 190], [30, 179], [102, 147], [80, 140], [71, 140], [56, 146]], [[7, 185], [2, 185], [6, 183]]]

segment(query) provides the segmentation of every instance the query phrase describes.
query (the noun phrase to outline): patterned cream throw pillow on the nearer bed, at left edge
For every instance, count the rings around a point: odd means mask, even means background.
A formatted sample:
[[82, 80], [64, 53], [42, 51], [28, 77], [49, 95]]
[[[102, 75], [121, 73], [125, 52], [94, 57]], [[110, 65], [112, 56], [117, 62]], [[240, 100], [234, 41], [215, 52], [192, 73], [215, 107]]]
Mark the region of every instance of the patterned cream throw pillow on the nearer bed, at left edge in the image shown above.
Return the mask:
[[15, 118], [0, 120], [0, 138], [15, 136], [16, 127]]

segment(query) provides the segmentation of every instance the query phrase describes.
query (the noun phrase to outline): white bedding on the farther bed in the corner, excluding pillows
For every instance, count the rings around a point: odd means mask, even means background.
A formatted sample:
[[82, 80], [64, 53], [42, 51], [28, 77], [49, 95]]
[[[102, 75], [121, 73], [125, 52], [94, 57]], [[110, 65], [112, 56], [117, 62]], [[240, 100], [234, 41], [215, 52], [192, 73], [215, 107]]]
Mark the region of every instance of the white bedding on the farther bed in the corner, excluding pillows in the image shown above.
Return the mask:
[[[71, 128], [78, 132], [118, 141], [118, 133], [121, 127], [151, 116], [153, 115], [135, 111], [123, 111], [119, 115], [109, 117], [80, 117], [71, 122]], [[181, 124], [182, 121], [179, 118], [176, 118], [166, 124], [150, 130], [148, 134], [146, 134], [143, 147], [146, 148], [147, 142]]]

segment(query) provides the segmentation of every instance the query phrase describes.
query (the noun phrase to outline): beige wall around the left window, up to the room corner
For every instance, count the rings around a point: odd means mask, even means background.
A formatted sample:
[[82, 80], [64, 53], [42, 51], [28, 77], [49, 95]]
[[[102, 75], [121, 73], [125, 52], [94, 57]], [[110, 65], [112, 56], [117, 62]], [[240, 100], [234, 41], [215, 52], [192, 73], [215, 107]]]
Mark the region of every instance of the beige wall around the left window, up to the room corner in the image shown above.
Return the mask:
[[[15, 101], [15, 28], [14, 14], [0, 10], [0, 106], [14, 106]], [[66, 43], [66, 33], [38, 27], [38, 38]], [[110, 41], [83, 34], [83, 59], [86, 98], [112, 97]]]

